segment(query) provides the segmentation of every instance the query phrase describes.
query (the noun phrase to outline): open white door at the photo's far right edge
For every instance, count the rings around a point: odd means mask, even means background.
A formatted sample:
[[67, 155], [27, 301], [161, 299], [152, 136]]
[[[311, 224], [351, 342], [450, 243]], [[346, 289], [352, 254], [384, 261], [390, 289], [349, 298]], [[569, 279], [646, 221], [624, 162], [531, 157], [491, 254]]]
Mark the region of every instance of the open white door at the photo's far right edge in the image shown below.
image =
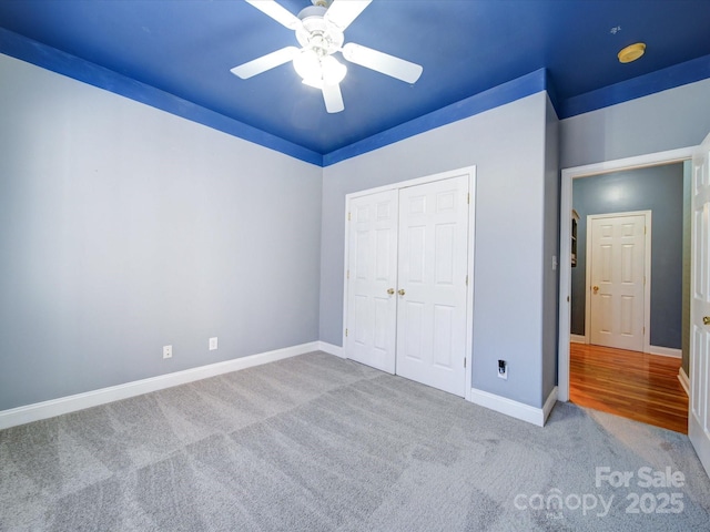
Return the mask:
[[710, 474], [710, 135], [693, 156], [688, 436]]

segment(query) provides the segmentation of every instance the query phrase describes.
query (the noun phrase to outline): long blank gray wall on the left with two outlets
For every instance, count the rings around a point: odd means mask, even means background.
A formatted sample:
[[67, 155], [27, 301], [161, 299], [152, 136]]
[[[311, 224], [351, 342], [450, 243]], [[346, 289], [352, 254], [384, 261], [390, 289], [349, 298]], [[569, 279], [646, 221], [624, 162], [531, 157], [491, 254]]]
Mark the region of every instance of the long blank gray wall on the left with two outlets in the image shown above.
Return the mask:
[[318, 339], [320, 167], [4, 55], [0, 80], [0, 410]]

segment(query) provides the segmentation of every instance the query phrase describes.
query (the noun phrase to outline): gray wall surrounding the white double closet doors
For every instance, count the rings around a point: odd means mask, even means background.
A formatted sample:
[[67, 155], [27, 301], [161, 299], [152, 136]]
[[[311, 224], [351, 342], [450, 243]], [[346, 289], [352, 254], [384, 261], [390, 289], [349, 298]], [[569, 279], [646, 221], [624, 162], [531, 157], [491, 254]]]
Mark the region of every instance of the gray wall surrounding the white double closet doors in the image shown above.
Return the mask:
[[[557, 183], [546, 181], [546, 170], [555, 173], [545, 163], [548, 117], [541, 92], [324, 168], [321, 339], [342, 345], [345, 195], [475, 164], [473, 386], [540, 407], [555, 372], [542, 360], [554, 247], [545, 242], [557, 237], [545, 216], [546, 187], [552, 194]], [[509, 361], [507, 381], [497, 378], [499, 358]]]

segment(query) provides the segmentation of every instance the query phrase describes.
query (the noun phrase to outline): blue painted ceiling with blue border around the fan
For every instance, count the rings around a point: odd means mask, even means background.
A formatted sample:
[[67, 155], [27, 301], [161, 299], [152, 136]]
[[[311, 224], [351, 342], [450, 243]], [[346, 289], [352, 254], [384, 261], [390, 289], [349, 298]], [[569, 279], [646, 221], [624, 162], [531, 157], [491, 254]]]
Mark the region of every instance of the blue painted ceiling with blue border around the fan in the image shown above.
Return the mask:
[[[311, 6], [278, 2], [294, 14]], [[345, 41], [424, 73], [410, 85], [347, 63], [345, 111], [328, 114], [290, 63], [248, 80], [230, 72], [298, 45], [243, 0], [0, 0], [0, 28], [320, 154], [542, 68], [565, 101], [710, 55], [709, 23], [710, 0], [374, 0]], [[637, 41], [646, 55], [619, 63]]]

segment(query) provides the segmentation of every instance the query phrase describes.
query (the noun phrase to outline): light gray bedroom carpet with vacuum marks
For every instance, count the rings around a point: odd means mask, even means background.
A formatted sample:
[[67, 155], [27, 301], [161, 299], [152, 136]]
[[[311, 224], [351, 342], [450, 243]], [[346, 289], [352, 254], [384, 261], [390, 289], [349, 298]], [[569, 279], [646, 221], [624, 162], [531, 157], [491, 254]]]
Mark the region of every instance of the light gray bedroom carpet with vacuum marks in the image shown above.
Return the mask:
[[565, 403], [538, 428], [322, 352], [0, 431], [0, 472], [3, 531], [710, 530], [686, 436]]

